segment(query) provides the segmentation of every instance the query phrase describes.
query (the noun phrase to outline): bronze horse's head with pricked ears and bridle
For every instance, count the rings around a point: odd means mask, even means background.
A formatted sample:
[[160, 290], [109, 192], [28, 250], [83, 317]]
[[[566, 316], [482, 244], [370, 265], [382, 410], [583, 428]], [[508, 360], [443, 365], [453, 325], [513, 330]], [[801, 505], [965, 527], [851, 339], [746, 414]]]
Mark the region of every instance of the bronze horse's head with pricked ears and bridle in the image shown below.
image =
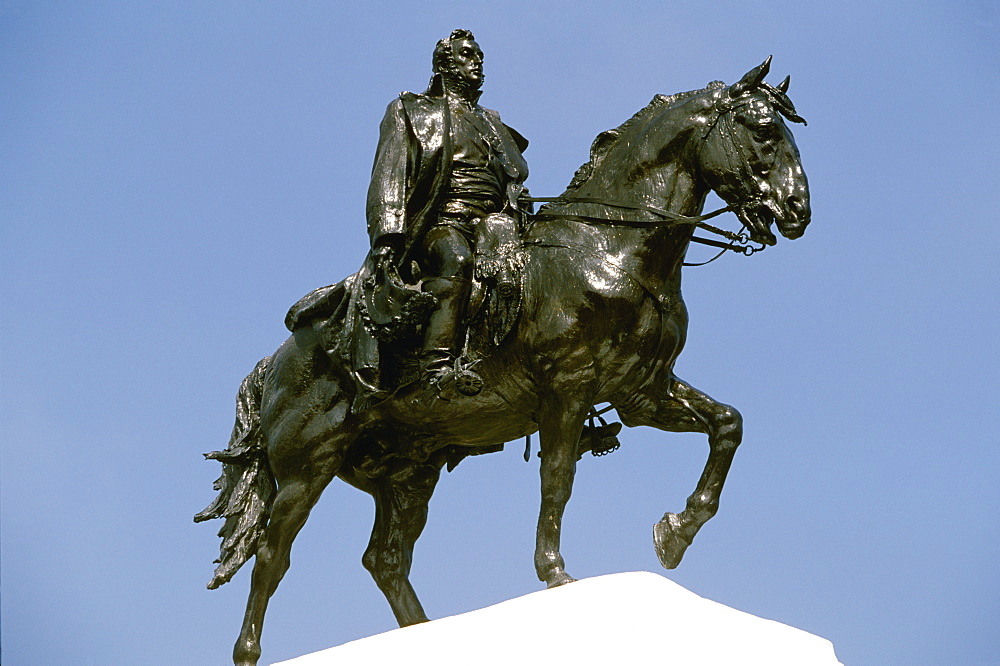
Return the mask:
[[739, 82], [714, 93], [699, 151], [708, 185], [735, 211], [758, 243], [774, 245], [771, 223], [785, 238], [801, 236], [809, 224], [809, 184], [799, 150], [785, 120], [805, 123], [786, 94], [764, 82], [768, 57]]

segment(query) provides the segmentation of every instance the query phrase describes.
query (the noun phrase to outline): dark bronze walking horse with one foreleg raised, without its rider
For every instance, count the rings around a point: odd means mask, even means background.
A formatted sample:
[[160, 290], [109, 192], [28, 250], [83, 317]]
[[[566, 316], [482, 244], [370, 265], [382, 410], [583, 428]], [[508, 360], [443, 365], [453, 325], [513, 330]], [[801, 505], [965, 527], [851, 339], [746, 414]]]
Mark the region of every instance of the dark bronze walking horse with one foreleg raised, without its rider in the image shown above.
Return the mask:
[[538, 432], [535, 572], [548, 587], [572, 582], [560, 530], [594, 405], [610, 404], [626, 426], [708, 436], [687, 506], [653, 530], [663, 566], [680, 563], [718, 509], [743, 432], [735, 408], [673, 373], [687, 330], [681, 267], [696, 227], [707, 227], [705, 198], [716, 192], [762, 245], [776, 242], [772, 224], [795, 239], [810, 219], [785, 124], [805, 121], [786, 94], [787, 78], [764, 82], [769, 67], [770, 58], [731, 86], [657, 95], [597, 137], [590, 161], [524, 231], [520, 315], [476, 365], [485, 383], [478, 395], [429, 399], [410, 384], [357, 409], [355, 381], [326, 353], [317, 326], [297, 328], [258, 363], [240, 387], [229, 447], [206, 454], [223, 463], [219, 496], [195, 517], [225, 518], [209, 588], [256, 557], [235, 664], [257, 663], [292, 541], [335, 477], [375, 499], [362, 562], [407, 626], [427, 620], [408, 575], [441, 469]]

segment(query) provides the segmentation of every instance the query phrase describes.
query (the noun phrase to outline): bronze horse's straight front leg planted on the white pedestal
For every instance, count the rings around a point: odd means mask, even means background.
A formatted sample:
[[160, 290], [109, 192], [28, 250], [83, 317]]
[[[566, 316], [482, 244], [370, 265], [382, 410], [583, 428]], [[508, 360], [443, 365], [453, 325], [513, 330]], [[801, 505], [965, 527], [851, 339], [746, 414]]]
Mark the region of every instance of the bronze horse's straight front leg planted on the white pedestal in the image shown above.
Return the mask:
[[580, 433], [590, 403], [567, 401], [555, 392], [538, 419], [541, 440], [542, 506], [535, 533], [535, 572], [547, 587], [573, 582], [559, 553], [563, 512], [573, 492]]

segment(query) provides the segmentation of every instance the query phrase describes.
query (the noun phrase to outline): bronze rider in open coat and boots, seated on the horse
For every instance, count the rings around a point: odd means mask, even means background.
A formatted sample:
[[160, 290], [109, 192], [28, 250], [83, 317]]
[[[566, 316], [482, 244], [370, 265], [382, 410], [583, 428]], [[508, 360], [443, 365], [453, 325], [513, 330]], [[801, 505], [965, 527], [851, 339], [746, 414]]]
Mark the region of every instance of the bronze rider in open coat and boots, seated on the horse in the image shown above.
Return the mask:
[[491, 213], [517, 218], [527, 196], [528, 142], [479, 106], [482, 84], [473, 34], [455, 30], [439, 41], [427, 90], [401, 93], [386, 110], [368, 190], [373, 260], [422, 280], [437, 299], [421, 354], [432, 378], [462, 353], [477, 224]]

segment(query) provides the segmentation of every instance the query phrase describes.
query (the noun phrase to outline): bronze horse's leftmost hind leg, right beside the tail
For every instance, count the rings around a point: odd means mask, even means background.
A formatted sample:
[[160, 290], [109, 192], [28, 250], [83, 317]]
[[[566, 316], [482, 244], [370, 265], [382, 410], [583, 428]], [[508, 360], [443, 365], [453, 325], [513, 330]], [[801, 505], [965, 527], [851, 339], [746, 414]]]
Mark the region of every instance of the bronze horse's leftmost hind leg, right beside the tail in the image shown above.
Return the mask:
[[260, 658], [260, 632], [267, 602], [288, 571], [295, 536], [340, 466], [342, 454], [333, 454], [335, 449], [332, 445], [329, 450], [331, 455], [322, 460], [316, 456], [306, 462], [303, 456], [303, 464], [292, 475], [277, 475], [278, 493], [271, 508], [270, 520], [257, 546], [250, 598], [240, 637], [233, 648], [233, 663], [236, 666], [255, 666]]

